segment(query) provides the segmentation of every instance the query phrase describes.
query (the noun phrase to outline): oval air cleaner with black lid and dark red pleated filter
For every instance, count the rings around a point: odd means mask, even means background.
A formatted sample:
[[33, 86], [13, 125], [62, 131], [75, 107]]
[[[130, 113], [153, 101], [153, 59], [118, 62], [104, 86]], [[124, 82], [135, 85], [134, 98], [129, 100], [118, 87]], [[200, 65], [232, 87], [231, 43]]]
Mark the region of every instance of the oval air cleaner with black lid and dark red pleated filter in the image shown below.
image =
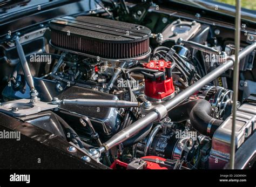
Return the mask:
[[107, 59], [129, 59], [150, 52], [150, 29], [116, 20], [80, 16], [53, 19], [51, 44]]

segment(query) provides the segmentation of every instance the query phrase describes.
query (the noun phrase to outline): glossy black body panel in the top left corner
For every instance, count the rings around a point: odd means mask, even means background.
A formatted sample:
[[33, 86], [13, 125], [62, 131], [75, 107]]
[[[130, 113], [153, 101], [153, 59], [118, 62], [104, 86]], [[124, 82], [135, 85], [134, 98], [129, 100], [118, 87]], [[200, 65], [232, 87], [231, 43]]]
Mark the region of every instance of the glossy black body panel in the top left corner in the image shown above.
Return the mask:
[[[22, 1], [23, 4], [15, 4], [14, 8], [8, 10], [9, 13], [3, 11], [3, 5], [0, 6], [0, 37], [11, 31], [15, 33], [18, 30], [33, 25], [48, 22], [57, 17], [76, 15], [82, 12], [95, 10], [94, 1]], [[38, 7], [40, 5], [40, 8]], [[24, 8], [24, 6], [26, 6]], [[17, 9], [15, 11], [14, 9]], [[7, 11], [7, 10], [6, 10]]]

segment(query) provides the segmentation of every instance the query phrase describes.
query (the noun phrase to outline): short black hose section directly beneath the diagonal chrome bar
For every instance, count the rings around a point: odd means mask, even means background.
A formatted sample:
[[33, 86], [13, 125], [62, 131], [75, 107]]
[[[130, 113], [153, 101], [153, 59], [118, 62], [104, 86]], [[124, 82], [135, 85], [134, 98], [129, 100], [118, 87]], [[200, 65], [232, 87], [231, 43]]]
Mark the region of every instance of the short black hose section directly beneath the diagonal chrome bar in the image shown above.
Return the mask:
[[124, 147], [132, 146], [135, 143], [138, 143], [139, 141], [143, 140], [151, 131], [153, 126], [153, 123], [151, 123], [146, 128], [139, 131], [138, 134], [132, 136], [131, 138], [127, 139], [125, 142], [123, 142]]

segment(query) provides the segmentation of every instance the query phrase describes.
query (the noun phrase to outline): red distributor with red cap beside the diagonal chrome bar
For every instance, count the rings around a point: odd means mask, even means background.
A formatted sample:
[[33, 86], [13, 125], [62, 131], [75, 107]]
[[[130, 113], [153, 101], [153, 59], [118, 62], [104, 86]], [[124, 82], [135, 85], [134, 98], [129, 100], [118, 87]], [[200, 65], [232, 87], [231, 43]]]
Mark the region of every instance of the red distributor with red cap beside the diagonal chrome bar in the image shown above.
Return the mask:
[[151, 70], [159, 70], [164, 75], [159, 78], [147, 77], [145, 74], [145, 95], [147, 98], [163, 100], [169, 97], [175, 91], [172, 80], [171, 62], [164, 60], [151, 60], [144, 65]]

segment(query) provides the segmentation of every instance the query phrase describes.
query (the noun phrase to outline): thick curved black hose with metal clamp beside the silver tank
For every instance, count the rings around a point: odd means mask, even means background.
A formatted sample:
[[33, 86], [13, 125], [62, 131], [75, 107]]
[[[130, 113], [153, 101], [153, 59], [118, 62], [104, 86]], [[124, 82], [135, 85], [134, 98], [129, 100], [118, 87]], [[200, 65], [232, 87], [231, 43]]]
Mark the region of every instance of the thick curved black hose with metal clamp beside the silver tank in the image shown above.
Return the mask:
[[[204, 99], [195, 99], [174, 107], [168, 114], [173, 122], [190, 119], [194, 129], [203, 135], [212, 137], [215, 130], [223, 123], [223, 120], [214, 119], [211, 113], [212, 107], [210, 102]], [[207, 128], [210, 128], [208, 133]]]

